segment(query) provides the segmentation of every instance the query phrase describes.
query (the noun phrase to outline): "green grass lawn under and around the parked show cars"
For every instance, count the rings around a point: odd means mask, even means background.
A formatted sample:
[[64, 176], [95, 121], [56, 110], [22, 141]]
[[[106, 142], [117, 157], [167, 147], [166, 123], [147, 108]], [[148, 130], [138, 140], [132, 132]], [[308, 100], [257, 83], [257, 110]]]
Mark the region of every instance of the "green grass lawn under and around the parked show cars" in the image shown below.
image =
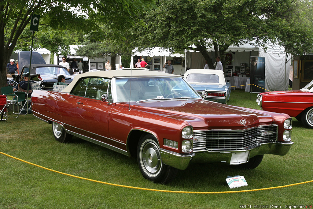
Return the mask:
[[[235, 90], [228, 104], [259, 109], [256, 96]], [[57, 142], [51, 125], [33, 115], [0, 122], [0, 152], [49, 169], [113, 184], [169, 191], [240, 191], [313, 180], [312, 135], [312, 129], [304, 128], [293, 118], [295, 144], [285, 156], [264, 155], [254, 170], [224, 164], [191, 165], [179, 171], [176, 180], [168, 185], [144, 179], [135, 158], [79, 138], [67, 144]], [[229, 189], [225, 178], [234, 175], [243, 175], [248, 186]], [[311, 205], [313, 193], [313, 183], [227, 194], [144, 191], [77, 179], [3, 154], [0, 154], [0, 186], [0, 208], [243, 208], [240, 205], [270, 208]]]

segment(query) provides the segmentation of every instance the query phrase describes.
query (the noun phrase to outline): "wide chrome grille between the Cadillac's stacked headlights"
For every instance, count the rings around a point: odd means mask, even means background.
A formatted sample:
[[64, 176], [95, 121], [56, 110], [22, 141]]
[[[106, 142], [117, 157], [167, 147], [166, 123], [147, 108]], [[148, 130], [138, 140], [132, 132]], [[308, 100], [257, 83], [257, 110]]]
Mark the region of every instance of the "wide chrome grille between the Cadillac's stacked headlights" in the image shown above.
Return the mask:
[[[261, 133], [270, 132], [270, 135]], [[245, 130], [209, 130], [193, 132], [193, 149], [209, 151], [239, 151], [257, 146], [259, 143], [274, 142], [277, 125], [260, 126]]]

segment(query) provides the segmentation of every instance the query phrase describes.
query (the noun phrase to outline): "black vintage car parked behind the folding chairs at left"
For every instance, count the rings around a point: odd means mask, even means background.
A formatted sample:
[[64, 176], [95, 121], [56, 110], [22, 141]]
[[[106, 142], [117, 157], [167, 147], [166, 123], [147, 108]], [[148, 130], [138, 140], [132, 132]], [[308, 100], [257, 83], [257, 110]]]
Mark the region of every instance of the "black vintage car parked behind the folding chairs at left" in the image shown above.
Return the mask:
[[[24, 65], [21, 74], [30, 72], [31, 80], [40, 84], [43, 90], [52, 90], [53, 84], [58, 81], [59, 75], [65, 76], [65, 83], [72, 82], [75, 75], [69, 74], [67, 69], [62, 65], [50, 64], [33, 64], [29, 71], [29, 65]], [[23, 76], [19, 76], [18, 80], [21, 81]]]

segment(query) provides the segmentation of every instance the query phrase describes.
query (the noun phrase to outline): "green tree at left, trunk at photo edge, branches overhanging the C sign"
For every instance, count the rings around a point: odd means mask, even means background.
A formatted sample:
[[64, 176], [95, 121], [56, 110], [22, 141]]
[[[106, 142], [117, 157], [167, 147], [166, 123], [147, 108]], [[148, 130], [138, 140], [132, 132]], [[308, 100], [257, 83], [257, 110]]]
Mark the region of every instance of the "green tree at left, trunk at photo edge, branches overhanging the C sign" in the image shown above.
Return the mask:
[[0, 87], [6, 85], [6, 64], [19, 37], [28, 30], [32, 13], [40, 14], [44, 24], [54, 29], [92, 31], [99, 22], [110, 21], [121, 31], [135, 23], [134, 14], [153, 5], [153, 0], [0, 0]]

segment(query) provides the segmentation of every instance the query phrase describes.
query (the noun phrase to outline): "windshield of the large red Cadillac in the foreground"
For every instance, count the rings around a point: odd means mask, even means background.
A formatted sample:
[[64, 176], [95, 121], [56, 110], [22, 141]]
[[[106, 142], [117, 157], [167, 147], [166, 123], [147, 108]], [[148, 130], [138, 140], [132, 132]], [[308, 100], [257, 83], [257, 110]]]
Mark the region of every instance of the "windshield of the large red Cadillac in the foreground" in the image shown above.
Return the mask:
[[182, 78], [116, 78], [115, 87], [117, 102], [181, 97], [201, 99], [198, 93]]

